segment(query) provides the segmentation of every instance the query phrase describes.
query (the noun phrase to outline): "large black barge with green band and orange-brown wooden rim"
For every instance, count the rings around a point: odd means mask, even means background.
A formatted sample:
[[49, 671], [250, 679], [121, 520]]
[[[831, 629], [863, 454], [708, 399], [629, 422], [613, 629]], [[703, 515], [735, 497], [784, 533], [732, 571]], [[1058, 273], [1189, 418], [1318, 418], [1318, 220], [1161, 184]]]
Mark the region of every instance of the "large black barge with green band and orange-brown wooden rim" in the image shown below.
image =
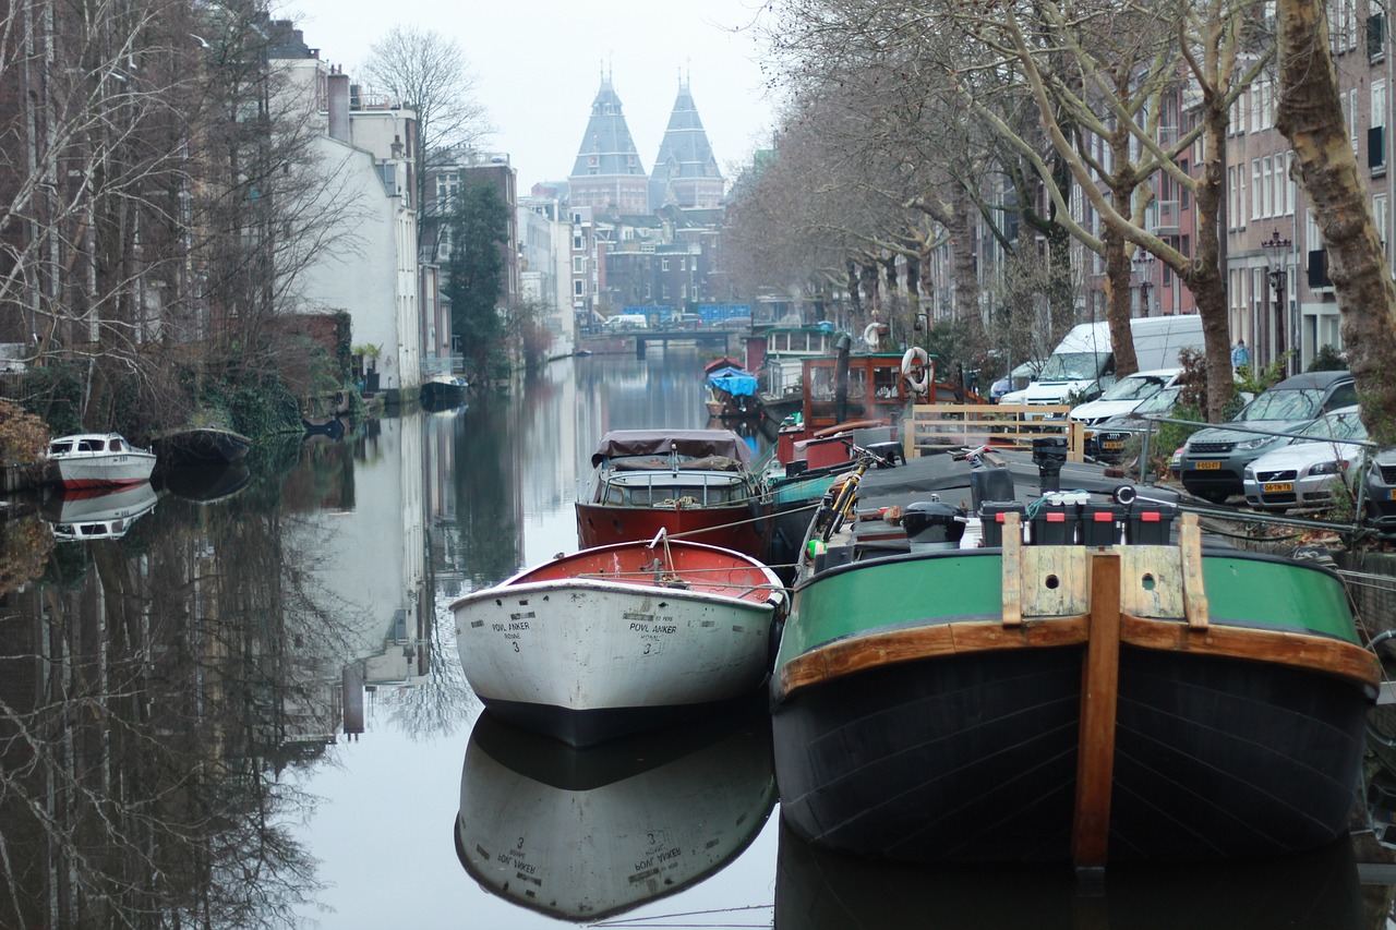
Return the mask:
[[[1347, 832], [1381, 663], [1333, 571], [1203, 545], [1132, 489], [1025, 507], [1002, 475], [949, 490], [942, 471], [945, 500], [863, 483], [842, 526], [812, 524], [771, 681], [800, 836], [1093, 870]], [[868, 519], [882, 507], [902, 525]]]

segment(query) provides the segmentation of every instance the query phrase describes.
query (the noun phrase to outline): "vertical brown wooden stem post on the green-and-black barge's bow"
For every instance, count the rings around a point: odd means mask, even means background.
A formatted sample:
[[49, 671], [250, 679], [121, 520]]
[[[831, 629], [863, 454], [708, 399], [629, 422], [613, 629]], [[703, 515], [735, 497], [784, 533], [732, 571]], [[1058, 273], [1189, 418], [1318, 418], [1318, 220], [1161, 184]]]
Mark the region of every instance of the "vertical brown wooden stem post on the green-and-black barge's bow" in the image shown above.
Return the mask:
[[1115, 765], [1120, 684], [1120, 556], [1090, 556], [1090, 638], [1081, 688], [1076, 811], [1071, 856], [1078, 874], [1099, 874], [1110, 846], [1110, 797]]

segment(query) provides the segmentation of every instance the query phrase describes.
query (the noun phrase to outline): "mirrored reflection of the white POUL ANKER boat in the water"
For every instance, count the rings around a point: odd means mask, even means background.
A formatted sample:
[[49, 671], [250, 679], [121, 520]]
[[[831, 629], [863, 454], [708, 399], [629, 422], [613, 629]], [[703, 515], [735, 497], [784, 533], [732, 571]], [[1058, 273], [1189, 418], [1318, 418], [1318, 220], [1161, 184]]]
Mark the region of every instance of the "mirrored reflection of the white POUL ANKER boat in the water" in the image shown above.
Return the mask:
[[734, 860], [775, 806], [764, 707], [591, 748], [480, 715], [455, 849], [480, 887], [565, 920], [681, 891]]

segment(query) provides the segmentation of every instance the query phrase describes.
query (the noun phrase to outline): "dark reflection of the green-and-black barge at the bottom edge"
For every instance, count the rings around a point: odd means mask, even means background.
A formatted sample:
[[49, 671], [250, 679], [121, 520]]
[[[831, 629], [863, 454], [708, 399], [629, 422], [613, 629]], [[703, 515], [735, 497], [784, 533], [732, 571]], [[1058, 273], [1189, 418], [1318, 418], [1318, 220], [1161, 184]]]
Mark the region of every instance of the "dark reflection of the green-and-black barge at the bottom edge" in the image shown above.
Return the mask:
[[1092, 890], [1068, 869], [945, 867], [817, 849], [780, 822], [776, 930], [1360, 930], [1361, 885], [1342, 839], [1283, 859], [1111, 866]]

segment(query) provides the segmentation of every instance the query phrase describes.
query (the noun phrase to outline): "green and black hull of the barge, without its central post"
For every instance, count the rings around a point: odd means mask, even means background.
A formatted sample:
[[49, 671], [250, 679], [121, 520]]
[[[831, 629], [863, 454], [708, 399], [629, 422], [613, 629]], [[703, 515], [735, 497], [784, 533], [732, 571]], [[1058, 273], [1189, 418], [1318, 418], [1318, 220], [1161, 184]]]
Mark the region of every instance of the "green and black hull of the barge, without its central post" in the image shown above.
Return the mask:
[[1100, 707], [1083, 691], [1093, 617], [1005, 628], [1001, 571], [998, 550], [951, 550], [796, 585], [772, 732], [799, 836], [878, 859], [1075, 862], [1079, 767], [1103, 760], [1110, 862], [1284, 856], [1346, 834], [1375, 660], [1333, 573], [1203, 553], [1206, 631], [1121, 619], [1103, 739], [1083, 726]]

